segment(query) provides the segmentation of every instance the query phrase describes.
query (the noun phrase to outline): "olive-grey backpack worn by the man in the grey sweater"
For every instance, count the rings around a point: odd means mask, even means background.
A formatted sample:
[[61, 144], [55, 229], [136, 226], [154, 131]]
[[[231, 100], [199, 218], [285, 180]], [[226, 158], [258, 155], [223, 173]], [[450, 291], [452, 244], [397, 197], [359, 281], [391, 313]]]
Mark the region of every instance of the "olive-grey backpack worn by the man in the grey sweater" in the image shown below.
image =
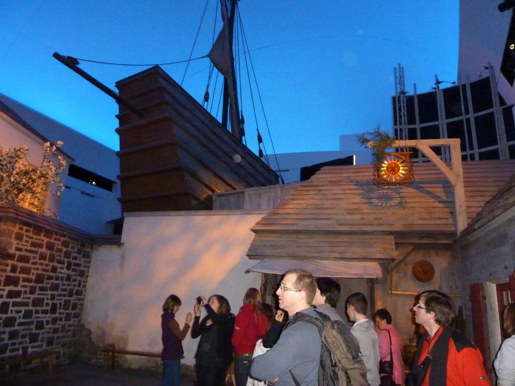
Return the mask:
[[[307, 322], [318, 328], [322, 339], [318, 386], [369, 386], [359, 343], [349, 327], [342, 321], [333, 321], [327, 315], [315, 312], [320, 320], [299, 313], [290, 321], [290, 325]], [[300, 386], [291, 370], [290, 375]]]

